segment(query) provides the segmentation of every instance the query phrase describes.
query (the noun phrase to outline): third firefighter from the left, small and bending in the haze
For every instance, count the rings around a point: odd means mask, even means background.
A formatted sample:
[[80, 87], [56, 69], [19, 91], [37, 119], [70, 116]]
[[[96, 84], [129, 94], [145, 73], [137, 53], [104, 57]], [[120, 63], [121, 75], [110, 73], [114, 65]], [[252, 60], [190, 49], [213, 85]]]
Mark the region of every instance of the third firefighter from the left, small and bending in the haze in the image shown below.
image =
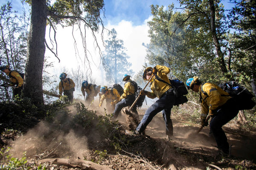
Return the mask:
[[91, 83], [88, 83], [87, 80], [84, 80], [82, 82], [81, 91], [83, 96], [85, 96], [85, 92], [86, 92], [85, 102], [87, 102], [87, 104], [90, 105], [94, 101], [94, 96], [95, 96], [93, 85]]

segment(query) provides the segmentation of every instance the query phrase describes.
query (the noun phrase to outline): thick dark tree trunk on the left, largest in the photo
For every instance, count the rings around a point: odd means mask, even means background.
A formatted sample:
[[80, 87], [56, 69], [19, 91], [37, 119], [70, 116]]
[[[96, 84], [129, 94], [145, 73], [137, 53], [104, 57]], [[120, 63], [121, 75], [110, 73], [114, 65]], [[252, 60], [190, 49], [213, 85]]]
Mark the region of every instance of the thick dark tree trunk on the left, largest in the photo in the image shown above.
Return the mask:
[[44, 103], [42, 73], [47, 20], [46, 0], [32, 0], [23, 94], [39, 105]]

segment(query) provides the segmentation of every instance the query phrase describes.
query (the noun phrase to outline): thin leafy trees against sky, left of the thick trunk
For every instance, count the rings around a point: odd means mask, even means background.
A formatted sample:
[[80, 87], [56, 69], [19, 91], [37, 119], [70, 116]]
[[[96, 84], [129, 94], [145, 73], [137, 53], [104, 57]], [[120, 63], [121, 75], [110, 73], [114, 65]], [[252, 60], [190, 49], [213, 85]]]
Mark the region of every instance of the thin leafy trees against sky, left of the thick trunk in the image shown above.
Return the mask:
[[[24, 10], [24, 9], [23, 9]], [[12, 3], [1, 4], [0, 8], [0, 65], [9, 65], [11, 70], [24, 73], [26, 40], [29, 17], [12, 10]], [[3, 73], [3, 72], [2, 72]], [[6, 74], [0, 74], [0, 84], [9, 82]], [[0, 101], [12, 98], [12, 88], [1, 87]]]

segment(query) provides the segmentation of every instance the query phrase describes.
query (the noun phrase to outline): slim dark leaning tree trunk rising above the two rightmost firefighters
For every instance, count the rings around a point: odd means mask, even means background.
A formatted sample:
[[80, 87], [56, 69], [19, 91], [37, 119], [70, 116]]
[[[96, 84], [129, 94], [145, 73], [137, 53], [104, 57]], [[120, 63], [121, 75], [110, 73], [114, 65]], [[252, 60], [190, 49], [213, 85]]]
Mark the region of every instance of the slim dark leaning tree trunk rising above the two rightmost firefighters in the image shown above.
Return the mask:
[[221, 71], [223, 73], [227, 73], [227, 67], [224, 61], [224, 54], [221, 51], [221, 46], [216, 34], [216, 28], [215, 28], [215, 7], [214, 7], [214, 1], [213, 0], [209, 0], [209, 6], [210, 6], [210, 11], [211, 11], [211, 32], [212, 32], [212, 38], [213, 38], [213, 42], [217, 51], [217, 55], [218, 55], [218, 62], [220, 63], [220, 67], [221, 67]]

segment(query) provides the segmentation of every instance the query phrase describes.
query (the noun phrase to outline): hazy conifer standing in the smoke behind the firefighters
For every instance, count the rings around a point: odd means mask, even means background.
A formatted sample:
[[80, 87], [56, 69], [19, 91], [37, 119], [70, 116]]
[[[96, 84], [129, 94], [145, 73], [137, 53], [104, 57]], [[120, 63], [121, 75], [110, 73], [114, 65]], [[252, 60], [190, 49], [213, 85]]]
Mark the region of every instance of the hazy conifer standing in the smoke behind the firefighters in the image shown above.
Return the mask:
[[109, 82], [121, 82], [124, 74], [132, 75], [133, 71], [129, 68], [131, 63], [128, 62], [130, 58], [126, 53], [123, 40], [117, 39], [117, 32], [113, 28], [108, 33], [108, 40], [106, 40], [105, 50], [105, 65], [106, 65], [106, 79]]

